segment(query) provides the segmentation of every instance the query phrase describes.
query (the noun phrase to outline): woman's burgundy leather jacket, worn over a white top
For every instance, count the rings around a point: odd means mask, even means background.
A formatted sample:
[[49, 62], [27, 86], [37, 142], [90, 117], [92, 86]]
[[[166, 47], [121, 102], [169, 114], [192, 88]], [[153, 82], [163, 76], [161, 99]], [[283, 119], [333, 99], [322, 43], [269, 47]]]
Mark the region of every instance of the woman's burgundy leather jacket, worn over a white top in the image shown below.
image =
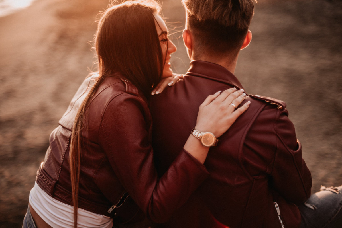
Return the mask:
[[[71, 129], [94, 77], [82, 83], [51, 133], [50, 147], [37, 172], [38, 185], [70, 205]], [[104, 79], [89, 107], [89, 129], [82, 132], [88, 143], [81, 154], [79, 208], [113, 216], [121, 223], [143, 219], [144, 214], [154, 222], [166, 222], [209, 173], [181, 148], [165, 174], [158, 177], [147, 101], [135, 86], [118, 77]], [[108, 213], [112, 206], [115, 209]]]

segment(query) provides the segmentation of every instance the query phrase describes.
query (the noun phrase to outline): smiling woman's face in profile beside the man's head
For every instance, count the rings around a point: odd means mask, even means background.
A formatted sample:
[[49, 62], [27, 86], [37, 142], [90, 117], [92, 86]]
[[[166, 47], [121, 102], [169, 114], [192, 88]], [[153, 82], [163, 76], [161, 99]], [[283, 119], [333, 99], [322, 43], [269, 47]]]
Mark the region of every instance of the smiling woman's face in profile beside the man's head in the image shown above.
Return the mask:
[[164, 20], [157, 13], [154, 13], [154, 17], [156, 18], [155, 24], [159, 35], [161, 50], [163, 52], [163, 61], [165, 62], [163, 77], [170, 77], [172, 76], [170, 58], [171, 54], [177, 51], [177, 48], [172, 41], [168, 39], [168, 28], [166, 27]]

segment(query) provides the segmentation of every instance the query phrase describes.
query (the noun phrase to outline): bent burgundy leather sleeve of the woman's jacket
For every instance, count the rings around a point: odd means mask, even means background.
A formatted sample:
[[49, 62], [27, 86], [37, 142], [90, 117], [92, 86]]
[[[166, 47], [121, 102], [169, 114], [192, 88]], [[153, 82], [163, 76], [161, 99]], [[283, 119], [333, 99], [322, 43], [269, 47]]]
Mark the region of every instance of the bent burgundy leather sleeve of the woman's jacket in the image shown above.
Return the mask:
[[147, 105], [121, 94], [108, 104], [99, 142], [119, 181], [147, 217], [166, 222], [208, 177], [205, 166], [184, 149], [158, 180], [154, 166]]

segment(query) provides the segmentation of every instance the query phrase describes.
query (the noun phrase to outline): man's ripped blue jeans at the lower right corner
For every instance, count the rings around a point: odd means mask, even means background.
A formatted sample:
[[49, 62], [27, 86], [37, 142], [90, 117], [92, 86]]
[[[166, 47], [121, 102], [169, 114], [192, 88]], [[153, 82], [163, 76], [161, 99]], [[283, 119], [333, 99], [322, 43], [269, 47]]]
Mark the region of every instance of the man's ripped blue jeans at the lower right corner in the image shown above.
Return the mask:
[[342, 186], [322, 186], [321, 191], [297, 206], [302, 216], [300, 228], [342, 227]]

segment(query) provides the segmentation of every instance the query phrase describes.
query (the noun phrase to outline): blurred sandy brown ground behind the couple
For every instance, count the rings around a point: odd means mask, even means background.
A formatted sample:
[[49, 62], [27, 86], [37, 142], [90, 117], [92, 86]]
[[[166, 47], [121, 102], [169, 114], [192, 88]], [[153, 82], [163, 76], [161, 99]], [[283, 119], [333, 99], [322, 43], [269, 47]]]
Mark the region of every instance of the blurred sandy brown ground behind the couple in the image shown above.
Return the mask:
[[[184, 27], [180, 0], [163, 14]], [[99, 10], [108, 0], [37, 0], [0, 18], [0, 227], [21, 227], [36, 171], [78, 86], [94, 69]], [[248, 93], [284, 100], [320, 185], [342, 184], [342, 2], [260, 0], [235, 74]], [[174, 72], [189, 60], [172, 36]], [[137, 38], [139, 39], [139, 38]]]

